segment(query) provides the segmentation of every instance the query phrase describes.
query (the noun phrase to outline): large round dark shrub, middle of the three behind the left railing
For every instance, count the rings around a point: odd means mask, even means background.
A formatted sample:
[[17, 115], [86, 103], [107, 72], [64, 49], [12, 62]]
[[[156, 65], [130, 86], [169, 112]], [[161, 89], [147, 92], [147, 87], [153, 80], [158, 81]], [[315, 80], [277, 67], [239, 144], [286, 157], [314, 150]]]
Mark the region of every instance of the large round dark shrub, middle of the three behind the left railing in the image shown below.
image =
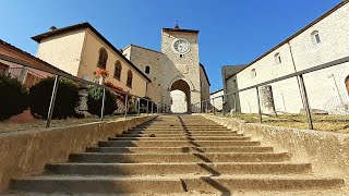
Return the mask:
[[[29, 89], [29, 108], [34, 117], [47, 119], [53, 84], [55, 78], [48, 77]], [[68, 79], [60, 79], [52, 119], [73, 117], [79, 101], [79, 87]]]

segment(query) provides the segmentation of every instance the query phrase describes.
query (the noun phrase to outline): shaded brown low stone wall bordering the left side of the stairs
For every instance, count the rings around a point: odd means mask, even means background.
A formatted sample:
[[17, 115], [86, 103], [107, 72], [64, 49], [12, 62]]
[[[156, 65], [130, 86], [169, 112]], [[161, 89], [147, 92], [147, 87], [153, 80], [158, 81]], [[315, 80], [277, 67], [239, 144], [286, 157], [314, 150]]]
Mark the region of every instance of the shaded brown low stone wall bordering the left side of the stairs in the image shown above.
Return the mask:
[[156, 115], [95, 122], [65, 127], [0, 134], [0, 191], [11, 179], [40, 174], [46, 163], [67, 162], [70, 154], [85, 151]]

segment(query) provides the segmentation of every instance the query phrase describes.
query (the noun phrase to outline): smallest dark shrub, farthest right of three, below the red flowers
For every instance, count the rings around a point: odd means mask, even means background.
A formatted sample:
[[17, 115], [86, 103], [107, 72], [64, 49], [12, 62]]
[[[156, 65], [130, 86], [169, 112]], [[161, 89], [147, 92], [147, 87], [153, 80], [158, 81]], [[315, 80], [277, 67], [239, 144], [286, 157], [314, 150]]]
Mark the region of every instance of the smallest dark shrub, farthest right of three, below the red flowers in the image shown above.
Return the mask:
[[[93, 86], [88, 89], [87, 111], [92, 114], [100, 117], [103, 88]], [[118, 109], [117, 99], [112, 93], [106, 90], [105, 112], [111, 114]]]

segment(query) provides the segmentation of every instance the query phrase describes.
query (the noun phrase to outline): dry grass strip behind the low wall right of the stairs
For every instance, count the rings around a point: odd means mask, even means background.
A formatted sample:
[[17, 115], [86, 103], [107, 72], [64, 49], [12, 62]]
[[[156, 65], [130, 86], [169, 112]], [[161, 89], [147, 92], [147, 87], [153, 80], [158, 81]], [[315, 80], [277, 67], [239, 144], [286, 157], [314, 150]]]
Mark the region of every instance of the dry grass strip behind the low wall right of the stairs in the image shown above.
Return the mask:
[[[232, 115], [232, 114], [217, 114], [217, 115], [238, 118], [248, 123], [260, 123], [258, 114], [239, 113], [237, 115]], [[349, 133], [349, 115], [313, 114], [312, 118], [313, 118], [314, 130], [316, 131]], [[306, 115], [300, 115], [300, 114], [282, 114], [278, 117], [263, 115], [263, 124], [308, 130]]]

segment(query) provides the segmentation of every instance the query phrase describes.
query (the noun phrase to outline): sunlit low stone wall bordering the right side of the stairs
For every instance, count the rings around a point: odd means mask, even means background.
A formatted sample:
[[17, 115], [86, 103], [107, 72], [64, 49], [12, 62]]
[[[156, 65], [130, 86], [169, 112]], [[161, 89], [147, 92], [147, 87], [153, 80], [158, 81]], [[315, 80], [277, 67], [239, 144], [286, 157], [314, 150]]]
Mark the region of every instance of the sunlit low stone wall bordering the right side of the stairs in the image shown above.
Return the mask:
[[313, 171], [349, 179], [349, 134], [317, 132], [245, 123], [239, 119], [203, 114], [231, 130], [251, 135], [275, 150], [292, 154], [299, 162], [311, 162]]

